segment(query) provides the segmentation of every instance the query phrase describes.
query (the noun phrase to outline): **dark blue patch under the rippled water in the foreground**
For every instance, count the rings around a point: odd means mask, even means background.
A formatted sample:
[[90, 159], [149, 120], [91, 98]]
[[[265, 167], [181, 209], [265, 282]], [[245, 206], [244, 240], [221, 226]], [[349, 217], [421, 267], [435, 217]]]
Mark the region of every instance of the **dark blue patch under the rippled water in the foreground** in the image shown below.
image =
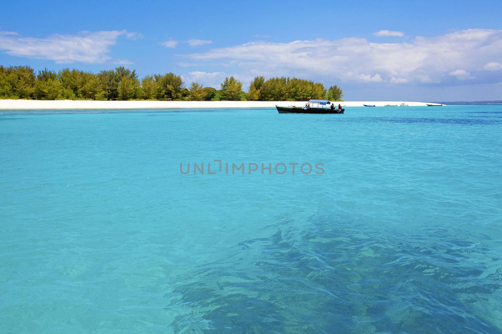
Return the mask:
[[[469, 260], [486, 249], [466, 231], [404, 233], [322, 214], [290, 224], [191, 272], [174, 290], [181, 299], [165, 310], [183, 304], [207, 311], [196, 321], [178, 316], [176, 331], [499, 332], [472, 314], [502, 284]], [[224, 265], [239, 262], [245, 270]]]

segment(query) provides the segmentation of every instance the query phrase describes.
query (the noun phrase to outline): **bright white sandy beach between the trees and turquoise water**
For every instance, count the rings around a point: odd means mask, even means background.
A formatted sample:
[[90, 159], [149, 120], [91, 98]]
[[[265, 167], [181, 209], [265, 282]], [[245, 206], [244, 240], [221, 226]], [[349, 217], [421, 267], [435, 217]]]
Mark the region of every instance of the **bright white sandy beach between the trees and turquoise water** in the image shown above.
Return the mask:
[[[362, 107], [363, 104], [383, 107], [386, 104], [427, 106], [426, 102], [409, 101], [343, 101], [343, 107]], [[305, 105], [305, 101], [37, 101], [0, 100], [0, 109], [145, 109], [145, 108], [270, 108], [277, 105]], [[427, 102], [431, 104], [430, 102]], [[437, 104], [439, 105], [439, 104]]]

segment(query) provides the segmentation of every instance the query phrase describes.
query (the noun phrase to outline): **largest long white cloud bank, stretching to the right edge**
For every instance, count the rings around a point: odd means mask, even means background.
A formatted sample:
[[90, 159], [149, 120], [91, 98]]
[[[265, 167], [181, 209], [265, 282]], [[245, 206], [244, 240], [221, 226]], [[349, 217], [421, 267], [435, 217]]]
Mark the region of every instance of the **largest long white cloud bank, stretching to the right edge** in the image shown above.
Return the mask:
[[[230, 69], [227, 72], [240, 73], [239, 78], [261, 73], [362, 83], [426, 84], [452, 83], [450, 73], [459, 69], [465, 74], [453, 76], [461, 80], [475, 77], [473, 83], [488, 82], [487, 76], [478, 74], [479, 69], [501, 55], [502, 30], [469, 29], [402, 43], [370, 43], [363, 38], [255, 42], [214, 48], [185, 58], [199, 64], [214, 65], [218, 61]], [[486, 66], [497, 68], [497, 64]]]

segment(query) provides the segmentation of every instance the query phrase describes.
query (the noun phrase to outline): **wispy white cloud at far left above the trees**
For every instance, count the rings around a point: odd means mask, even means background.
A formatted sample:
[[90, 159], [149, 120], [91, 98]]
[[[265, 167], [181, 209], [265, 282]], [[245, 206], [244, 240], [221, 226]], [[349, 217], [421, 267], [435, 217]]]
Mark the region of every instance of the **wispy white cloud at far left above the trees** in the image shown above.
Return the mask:
[[[46, 38], [22, 37], [14, 32], [0, 32], [0, 50], [11, 56], [48, 59], [56, 64], [104, 63], [111, 59], [110, 47], [126, 30], [82, 31], [77, 35], [55, 34]], [[135, 33], [131, 33], [135, 34]], [[127, 61], [127, 60], [123, 60]]]

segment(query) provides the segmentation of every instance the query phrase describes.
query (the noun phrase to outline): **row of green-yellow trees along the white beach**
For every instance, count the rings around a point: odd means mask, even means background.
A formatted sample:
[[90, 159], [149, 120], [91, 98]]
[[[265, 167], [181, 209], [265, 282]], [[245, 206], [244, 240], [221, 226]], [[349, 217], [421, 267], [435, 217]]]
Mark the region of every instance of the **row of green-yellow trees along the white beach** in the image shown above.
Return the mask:
[[119, 66], [97, 74], [65, 68], [36, 73], [29, 66], [0, 66], [0, 98], [37, 100], [191, 100], [191, 101], [303, 101], [311, 98], [341, 100], [337, 85], [325, 89], [311, 80], [258, 76], [247, 93], [242, 82], [225, 78], [220, 89], [192, 82], [186, 88], [180, 75], [152, 74], [139, 78], [136, 70]]

